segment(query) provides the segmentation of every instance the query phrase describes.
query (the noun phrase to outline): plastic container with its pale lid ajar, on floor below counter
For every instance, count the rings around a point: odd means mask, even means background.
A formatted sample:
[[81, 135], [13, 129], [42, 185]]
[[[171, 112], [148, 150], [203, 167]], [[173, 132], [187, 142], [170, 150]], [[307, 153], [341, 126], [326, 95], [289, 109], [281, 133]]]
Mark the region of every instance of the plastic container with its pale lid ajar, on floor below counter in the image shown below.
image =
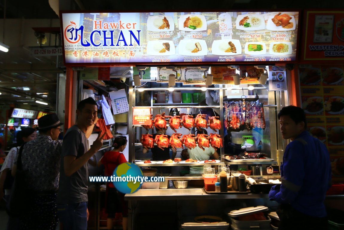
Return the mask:
[[238, 217], [248, 216], [251, 214], [268, 211], [269, 208], [265, 206], [257, 207], [248, 207], [242, 208], [239, 210], [233, 210], [228, 213], [230, 217], [231, 228], [234, 230], [250, 230], [250, 229], [259, 229], [259, 230], [271, 230], [270, 222], [271, 219], [268, 216], [265, 216], [266, 220], [239, 220]]

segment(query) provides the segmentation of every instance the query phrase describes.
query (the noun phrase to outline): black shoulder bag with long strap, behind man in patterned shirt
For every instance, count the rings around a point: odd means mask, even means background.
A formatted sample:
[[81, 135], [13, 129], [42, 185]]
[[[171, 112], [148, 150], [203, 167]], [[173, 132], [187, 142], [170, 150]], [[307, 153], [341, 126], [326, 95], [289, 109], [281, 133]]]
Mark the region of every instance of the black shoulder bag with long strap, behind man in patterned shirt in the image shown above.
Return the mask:
[[25, 174], [27, 170], [23, 170], [21, 160], [24, 144], [19, 149], [17, 171], [15, 173], [10, 198], [7, 202], [7, 213], [10, 217], [22, 216], [27, 211], [30, 205], [31, 196], [28, 196], [29, 191], [27, 189], [25, 181]]

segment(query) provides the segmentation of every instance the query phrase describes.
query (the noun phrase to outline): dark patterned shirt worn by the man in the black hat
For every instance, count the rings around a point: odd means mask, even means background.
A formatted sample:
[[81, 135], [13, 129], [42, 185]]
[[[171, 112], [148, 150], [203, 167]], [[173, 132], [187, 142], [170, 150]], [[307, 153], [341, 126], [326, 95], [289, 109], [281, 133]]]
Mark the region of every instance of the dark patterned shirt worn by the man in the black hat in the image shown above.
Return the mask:
[[[51, 191], [58, 189], [60, 178], [62, 140], [53, 141], [50, 136], [39, 135], [25, 144], [22, 152], [23, 170], [28, 189]], [[19, 153], [19, 152], [18, 152]], [[15, 164], [17, 164], [17, 158]]]

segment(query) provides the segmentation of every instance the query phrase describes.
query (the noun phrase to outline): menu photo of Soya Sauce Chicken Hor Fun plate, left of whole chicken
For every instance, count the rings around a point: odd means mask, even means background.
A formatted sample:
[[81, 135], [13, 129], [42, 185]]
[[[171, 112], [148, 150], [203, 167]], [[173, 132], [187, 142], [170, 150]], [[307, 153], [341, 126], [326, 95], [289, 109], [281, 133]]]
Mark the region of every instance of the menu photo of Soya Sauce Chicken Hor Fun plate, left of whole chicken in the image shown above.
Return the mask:
[[265, 20], [260, 14], [240, 14], [235, 25], [239, 30], [264, 30]]

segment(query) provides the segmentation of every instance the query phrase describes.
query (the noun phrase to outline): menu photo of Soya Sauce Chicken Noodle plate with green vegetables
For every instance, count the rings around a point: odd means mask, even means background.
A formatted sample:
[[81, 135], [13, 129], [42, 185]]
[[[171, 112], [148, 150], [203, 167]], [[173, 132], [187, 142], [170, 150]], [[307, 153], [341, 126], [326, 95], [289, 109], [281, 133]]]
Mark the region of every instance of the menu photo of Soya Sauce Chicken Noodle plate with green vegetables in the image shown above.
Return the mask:
[[186, 14], [179, 18], [179, 29], [184, 31], [202, 31], [207, 29], [204, 15]]

